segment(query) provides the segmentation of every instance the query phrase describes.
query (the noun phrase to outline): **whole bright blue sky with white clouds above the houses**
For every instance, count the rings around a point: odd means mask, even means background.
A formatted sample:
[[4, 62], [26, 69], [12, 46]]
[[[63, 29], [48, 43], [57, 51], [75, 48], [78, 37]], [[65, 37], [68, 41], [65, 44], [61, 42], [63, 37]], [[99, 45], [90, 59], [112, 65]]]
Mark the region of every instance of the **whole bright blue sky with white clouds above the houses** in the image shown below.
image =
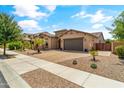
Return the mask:
[[105, 39], [111, 38], [105, 26], [111, 27], [113, 19], [124, 6], [41, 6], [1, 5], [0, 11], [15, 16], [25, 33], [50, 32], [60, 29], [76, 29], [85, 32], [103, 32]]

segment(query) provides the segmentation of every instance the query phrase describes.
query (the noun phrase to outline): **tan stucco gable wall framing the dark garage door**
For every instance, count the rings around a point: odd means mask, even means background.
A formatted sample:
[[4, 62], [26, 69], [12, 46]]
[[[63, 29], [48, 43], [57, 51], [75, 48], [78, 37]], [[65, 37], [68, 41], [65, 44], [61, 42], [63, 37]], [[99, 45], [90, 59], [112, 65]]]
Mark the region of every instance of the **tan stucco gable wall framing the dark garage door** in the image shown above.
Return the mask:
[[66, 34], [64, 34], [61, 39], [61, 48], [64, 49], [64, 39], [71, 39], [71, 38], [82, 38], [83, 40], [83, 49], [91, 49], [93, 47], [93, 44], [96, 42], [96, 38], [93, 36], [90, 36], [85, 33], [75, 32], [75, 31], [69, 31]]

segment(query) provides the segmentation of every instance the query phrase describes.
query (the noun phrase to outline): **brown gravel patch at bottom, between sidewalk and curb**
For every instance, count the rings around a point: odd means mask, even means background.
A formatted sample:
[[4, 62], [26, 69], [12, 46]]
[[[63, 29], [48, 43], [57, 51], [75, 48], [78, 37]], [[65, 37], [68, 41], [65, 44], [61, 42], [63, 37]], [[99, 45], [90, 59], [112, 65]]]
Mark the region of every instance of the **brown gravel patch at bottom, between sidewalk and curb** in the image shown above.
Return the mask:
[[42, 69], [37, 69], [21, 75], [33, 88], [81, 88], [59, 76]]

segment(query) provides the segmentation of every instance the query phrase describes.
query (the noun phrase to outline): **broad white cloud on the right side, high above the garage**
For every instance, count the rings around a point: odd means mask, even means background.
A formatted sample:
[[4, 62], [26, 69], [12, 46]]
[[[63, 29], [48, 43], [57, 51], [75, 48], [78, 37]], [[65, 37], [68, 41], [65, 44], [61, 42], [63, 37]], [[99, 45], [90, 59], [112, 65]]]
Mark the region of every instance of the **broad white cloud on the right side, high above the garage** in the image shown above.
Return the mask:
[[105, 15], [102, 10], [96, 11], [95, 14], [88, 14], [85, 13], [84, 11], [81, 11], [72, 16], [72, 18], [74, 17], [90, 18], [91, 23], [105, 23], [112, 19], [112, 16]]

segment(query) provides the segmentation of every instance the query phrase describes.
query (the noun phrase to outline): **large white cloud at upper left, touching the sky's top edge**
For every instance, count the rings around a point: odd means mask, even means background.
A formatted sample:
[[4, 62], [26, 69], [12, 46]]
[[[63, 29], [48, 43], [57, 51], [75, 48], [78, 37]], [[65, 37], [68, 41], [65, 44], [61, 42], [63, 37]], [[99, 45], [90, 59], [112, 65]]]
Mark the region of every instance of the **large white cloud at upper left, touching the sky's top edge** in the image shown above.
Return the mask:
[[14, 9], [13, 14], [20, 17], [43, 18], [48, 16], [48, 14], [39, 11], [39, 7], [35, 5], [15, 5]]

